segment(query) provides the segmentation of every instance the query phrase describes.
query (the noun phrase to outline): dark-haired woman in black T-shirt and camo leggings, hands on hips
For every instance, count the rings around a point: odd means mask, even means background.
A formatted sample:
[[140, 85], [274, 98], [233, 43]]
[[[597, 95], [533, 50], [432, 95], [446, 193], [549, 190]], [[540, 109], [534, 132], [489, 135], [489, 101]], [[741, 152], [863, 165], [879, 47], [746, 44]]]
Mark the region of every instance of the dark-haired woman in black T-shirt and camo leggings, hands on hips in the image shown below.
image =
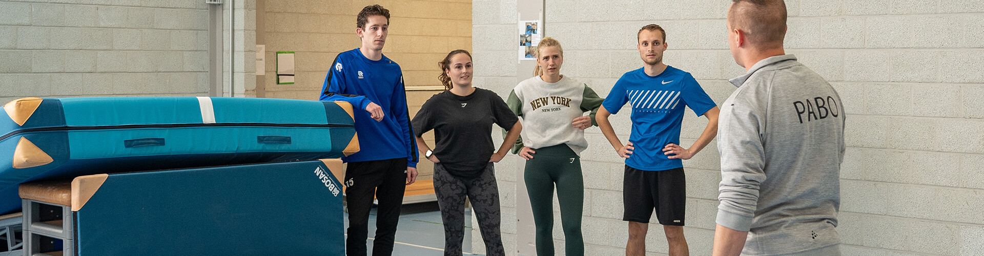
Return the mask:
[[[438, 78], [447, 91], [431, 96], [413, 117], [417, 148], [434, 161], [434, 192], [444, 222], [444, 255], [461, 255], [464, 238], [464, 199], [471, 200], [488, 255], [505, 255], [499, 209], [499, 188], [493, 162], [506, 156], [523, 125], [502, 97], [471, 87], [471, 54], [448, 53], [438, 63]], [[492, 124], [509, 130], [493, 153]], [[434, 130], [432, 152], [421, 136]]]

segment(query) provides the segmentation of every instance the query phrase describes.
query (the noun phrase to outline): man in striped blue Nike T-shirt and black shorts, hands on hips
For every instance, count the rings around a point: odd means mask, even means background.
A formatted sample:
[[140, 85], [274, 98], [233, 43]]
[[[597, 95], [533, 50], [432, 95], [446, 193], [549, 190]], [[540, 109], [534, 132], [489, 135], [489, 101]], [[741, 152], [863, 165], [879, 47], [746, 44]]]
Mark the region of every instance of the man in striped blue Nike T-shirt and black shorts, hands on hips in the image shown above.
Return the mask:
[[[653, 210], [663, 225], [669, 255], [690, 255], [683, 236], [687, 188], [683, 161], [701, 152], [717, 135], [717, 105], [690, 73], [663, 64], [666, 32], [650, 24], [639, 30], [643, 68], [626, 72], [615, 83], [595, 116], [598, 127], [625, 160], [623, 221], [629, 222], [626, 255], [646, 254], [646, 231]], [[632, 105], [632, 135], [623, 145], [608, 116]], [[680, 144], [684, 106], [707, 117], [707, 127], [690, 149]]]

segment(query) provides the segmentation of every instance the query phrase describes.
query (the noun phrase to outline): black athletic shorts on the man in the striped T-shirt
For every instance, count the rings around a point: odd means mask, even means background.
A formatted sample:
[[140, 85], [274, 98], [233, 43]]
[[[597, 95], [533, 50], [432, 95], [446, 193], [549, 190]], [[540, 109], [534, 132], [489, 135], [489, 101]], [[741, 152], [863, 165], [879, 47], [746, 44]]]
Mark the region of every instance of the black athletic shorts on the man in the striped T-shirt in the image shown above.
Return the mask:
[[622, 201], [623, 221], [647, 224], [655, 209], [659, 224], [683, 225], [687, 208], [683, 168], [641, 170], [626, 165]]

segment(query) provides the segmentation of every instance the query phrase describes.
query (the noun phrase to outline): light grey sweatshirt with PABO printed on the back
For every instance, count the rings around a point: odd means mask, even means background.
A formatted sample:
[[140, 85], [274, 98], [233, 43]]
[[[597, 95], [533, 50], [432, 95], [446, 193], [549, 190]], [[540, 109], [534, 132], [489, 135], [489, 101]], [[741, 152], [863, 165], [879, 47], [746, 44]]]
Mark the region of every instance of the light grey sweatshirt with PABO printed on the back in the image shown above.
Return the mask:
[[759, 61], [721, 107], [717, 224], [749, 231], [742, 255], [838, 255], [844, 108], [787, 54]]

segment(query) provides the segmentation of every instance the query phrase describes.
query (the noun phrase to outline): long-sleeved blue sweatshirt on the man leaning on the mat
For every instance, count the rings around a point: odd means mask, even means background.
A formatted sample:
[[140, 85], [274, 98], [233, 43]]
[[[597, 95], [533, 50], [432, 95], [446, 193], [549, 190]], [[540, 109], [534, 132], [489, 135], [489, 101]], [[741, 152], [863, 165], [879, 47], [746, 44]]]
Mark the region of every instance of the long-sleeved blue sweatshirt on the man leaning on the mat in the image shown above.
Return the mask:
[[[349, 161], [406, 158], [406, 165], [417, 166], [417, 143], [406, 110], [406, 93], [400, 65], [386, 55], [370, 60], [358, 48], [338, 53], [332, 70], [325, 77], [321, 100], [352, 103], [359, 152], [341, 158]], [[365, 111], [369, 102], [383, 108], [377, 122]]]

